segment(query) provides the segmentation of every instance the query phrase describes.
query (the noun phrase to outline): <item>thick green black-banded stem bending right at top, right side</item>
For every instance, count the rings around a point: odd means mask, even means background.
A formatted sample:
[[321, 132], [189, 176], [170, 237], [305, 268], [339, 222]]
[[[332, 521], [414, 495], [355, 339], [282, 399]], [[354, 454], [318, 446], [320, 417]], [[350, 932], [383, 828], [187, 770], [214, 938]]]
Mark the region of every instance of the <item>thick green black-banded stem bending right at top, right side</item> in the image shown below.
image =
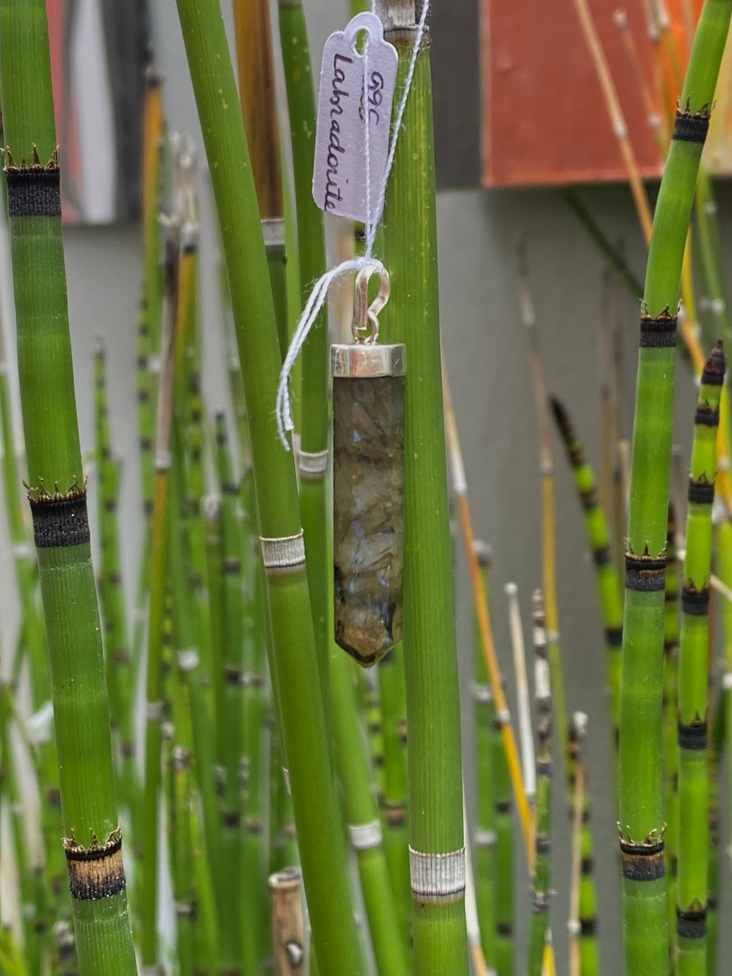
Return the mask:
[[699, 158], [730, 7], [728, 0], [706, 0], [699, 21], [656, 206], [641, 318], [619, 755], [628, 976], [656, 976], [668, 970], [660, 757], [674, 312]]

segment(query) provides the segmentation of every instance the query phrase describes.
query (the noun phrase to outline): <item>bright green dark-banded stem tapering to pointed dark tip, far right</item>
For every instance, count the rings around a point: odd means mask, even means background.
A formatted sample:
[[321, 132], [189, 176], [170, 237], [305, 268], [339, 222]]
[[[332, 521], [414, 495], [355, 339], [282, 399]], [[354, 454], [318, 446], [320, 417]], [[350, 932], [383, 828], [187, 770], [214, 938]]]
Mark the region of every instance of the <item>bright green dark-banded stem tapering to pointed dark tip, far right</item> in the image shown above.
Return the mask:
[[707, 972], [709, 604], [716, 434], [723, 383], [720, 340], [702, 374], [694, 419], [681, 591], [676, 885], [679, 976], [706, 976]]

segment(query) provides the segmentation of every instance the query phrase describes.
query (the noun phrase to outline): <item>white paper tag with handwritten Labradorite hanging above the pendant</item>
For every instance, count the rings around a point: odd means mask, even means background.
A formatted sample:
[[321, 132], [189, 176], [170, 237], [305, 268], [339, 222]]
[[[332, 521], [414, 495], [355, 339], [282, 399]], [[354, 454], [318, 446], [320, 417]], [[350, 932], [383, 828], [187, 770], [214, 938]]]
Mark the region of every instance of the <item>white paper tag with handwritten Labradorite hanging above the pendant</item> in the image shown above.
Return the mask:
[[[366, 126], [364, 59], [358, 35], [368, 30], [368, 124], [371, 214], [366, 213]], [[312, 195], [326, 214], [353, 221], [373, 221], [386, 171], [391, 102], [398, 64], [396, 48], [384, 40], [384, 25], [375, 14], [358, 14], [346, 30], [331, 34], [323, 49], [318, 95]]]

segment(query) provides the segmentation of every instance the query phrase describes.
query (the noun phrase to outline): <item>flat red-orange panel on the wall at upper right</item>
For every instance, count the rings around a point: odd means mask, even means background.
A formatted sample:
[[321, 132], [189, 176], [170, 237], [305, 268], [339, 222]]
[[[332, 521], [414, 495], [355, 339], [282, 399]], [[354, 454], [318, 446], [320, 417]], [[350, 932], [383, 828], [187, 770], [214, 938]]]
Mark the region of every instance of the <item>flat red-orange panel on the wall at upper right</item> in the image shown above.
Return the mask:
[[[480, 0], [482, 183], [510, 186], [625, 180], [618, 143], [573, 0]], [[642, 0], [627, 5], [649, 84], [653, 55]], [[619, 0], [590, 10], [645, 177], [661, 174], [618, 28]]]

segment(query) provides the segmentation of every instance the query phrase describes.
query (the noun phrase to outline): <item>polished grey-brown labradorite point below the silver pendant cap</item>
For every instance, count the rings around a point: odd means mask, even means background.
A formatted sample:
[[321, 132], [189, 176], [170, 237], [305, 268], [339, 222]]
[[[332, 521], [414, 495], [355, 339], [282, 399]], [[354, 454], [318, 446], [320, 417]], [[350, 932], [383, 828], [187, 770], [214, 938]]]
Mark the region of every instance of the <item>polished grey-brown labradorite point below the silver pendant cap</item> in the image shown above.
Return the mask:
[[402, 635], [404, 377], [333, 381], [337, 643], [370, 667]]

